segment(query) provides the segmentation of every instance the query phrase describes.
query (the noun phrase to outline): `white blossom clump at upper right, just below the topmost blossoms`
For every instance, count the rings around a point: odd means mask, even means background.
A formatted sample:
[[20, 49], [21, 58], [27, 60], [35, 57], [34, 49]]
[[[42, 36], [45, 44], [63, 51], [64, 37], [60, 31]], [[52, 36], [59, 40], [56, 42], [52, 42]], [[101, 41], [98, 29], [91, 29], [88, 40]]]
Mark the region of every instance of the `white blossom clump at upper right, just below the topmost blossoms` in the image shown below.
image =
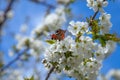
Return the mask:
[[100, 17], [99, 17], [99, 20], [100, 20], [100, 25], [101, 25], [101, 31], [102, 33], [108, 33], [111, 26], [112, 26], [112, 23], [110, 22], [110, 18], [111, 18], [111, 15], [110, 14], [106, 14], [106, 13], [103, 13]]

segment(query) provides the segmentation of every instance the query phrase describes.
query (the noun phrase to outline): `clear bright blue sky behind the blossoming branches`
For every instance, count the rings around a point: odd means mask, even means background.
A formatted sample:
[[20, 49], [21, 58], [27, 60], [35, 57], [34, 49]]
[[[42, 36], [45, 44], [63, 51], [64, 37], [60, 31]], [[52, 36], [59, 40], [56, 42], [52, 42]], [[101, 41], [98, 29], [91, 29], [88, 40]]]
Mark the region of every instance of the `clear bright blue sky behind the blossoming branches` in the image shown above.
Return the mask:
[[[1, 1], [0, 10], [3, 10], [5, 7], [4, 0]], [[49, 3], [52, 3], [50, 1]], [[52, 3], [55, 4], [55, 3]], [[77, 1], [70, 6], [72, 8], [73, 14], [77, 16], [89, 17], [93, 15], [94, 12], [86, 6], [86, 2]], [[28, 22], [28, 32], [25, 35], [30, 35], [30, 31], [41, 23], [41, 19], [44, 16], [45, 7], [39, 4], [31, 3], [28, 0], [19, 0], [13, 6], [14, 16], [12, 19], [7, 20], [5, 24], [5, 35], [2, 37], [2, 43], [0, 43], [0, 50], [5, 53], [4, 59], [5, 63], [8, 63], [14, 57], [9, 57], [8, 51], [13, 44], [16, 44], [16, 41], [12, 37], [12, 33], [20, 33], [20, 26], [25, 23], [25, 17], [30, 16]], [[111, 32], [117, 32], [120, 35], [120, 1], [110, 2], [108, 7], [105, 8], [105, 11], [111, 14], [111, 22], [113, 27]], [[74, 20], [80, 20], [74, 18]], [[67, 23], [68, 24], [68, 23]], [[12, 33], [11, 33], [12, 32]], [[116, 50], [103, 61], [103, 68], [101, 69], [102, 73], [107, 73], [110, 69], [120, 69], [120, 45], [116, 47]]]

